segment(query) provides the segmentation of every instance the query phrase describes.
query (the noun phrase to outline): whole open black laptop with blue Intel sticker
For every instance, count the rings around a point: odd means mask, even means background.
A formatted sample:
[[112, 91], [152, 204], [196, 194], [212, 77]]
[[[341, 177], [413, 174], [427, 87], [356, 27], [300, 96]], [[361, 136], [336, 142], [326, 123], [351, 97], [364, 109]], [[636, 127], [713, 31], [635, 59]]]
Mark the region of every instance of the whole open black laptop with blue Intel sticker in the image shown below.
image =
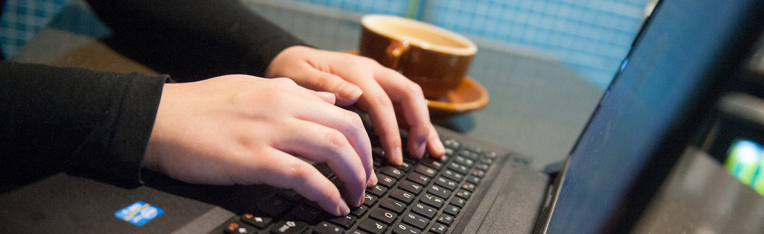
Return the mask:
[[[551, 173], [510, 149], [439, 128], [445, 159], [396, 167], [376, 145], [380, 184], [348, 216], [328, 216], [291, 190], [264, 185], [184, 184], [144, 171], [145, 186], [125, 189], [62, 173], [0, 194], [0, 232], [628, 232], [726, 81], [743, 69], [762, 16], [756, 0], [659, 2]], [[316, 167], [333, 180], [325, 165]]]

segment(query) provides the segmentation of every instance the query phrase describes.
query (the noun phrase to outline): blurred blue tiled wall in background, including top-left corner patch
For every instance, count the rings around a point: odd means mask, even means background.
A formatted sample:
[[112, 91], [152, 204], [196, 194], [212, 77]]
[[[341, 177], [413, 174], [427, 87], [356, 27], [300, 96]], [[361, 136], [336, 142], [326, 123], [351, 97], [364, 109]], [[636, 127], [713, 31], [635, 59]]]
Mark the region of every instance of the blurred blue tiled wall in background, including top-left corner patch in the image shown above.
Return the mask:
[[[5, 57], [13, 56], [69, 1], [8, 0], [0, 18]], [[406, 16], [471, 37], [543, 50], [604, 88], [630, 49], [648, 0], [290, 1]]]

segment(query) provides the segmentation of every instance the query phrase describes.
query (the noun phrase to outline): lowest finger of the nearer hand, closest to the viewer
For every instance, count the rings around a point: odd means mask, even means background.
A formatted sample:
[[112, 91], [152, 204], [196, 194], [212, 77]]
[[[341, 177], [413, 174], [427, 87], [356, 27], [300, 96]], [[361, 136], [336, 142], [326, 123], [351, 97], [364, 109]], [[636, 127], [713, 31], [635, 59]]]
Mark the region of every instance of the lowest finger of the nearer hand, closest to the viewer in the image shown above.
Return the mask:
[[335, 216], [345, 216], [350, 208], [340, 196], [339, 190], [324, 177], [316, 167], [285, 152], [273, 149], [268, 153], [266, 164], [261, 165], [264, 173], [253, 171], [251, 177], [274, 187], [295, 190], [307, 200], [315, 201]]

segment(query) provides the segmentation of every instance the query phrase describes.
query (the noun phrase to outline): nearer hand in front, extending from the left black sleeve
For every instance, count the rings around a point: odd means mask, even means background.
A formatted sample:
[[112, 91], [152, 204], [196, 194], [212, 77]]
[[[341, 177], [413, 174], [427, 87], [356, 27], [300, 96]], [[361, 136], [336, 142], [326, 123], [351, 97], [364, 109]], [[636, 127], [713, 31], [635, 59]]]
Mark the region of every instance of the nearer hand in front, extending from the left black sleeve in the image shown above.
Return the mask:
[[[286, 78], [165, 84], [144, 167], [189, 183], [293, 189], [329, 213], [347, 214], [377, 177], [360, 116], [334, 102], [332, 93]], [[342, 195], [293, 155], [329, 164], [345, 184]]]

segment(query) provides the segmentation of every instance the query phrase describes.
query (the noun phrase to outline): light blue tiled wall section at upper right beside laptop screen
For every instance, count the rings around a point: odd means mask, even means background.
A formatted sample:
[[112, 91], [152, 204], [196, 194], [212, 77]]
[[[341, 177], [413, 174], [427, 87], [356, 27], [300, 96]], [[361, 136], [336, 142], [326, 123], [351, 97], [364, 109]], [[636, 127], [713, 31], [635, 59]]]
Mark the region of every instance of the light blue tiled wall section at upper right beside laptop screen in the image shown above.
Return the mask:
[[432, 23], [549, 50], [604, 87], [629, 51], [645, 5], [645, 0], [440, 0], [432, 6]]

